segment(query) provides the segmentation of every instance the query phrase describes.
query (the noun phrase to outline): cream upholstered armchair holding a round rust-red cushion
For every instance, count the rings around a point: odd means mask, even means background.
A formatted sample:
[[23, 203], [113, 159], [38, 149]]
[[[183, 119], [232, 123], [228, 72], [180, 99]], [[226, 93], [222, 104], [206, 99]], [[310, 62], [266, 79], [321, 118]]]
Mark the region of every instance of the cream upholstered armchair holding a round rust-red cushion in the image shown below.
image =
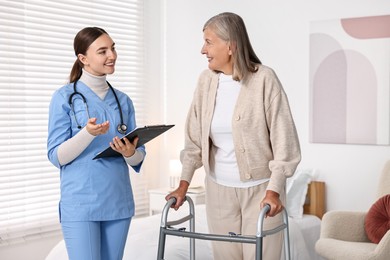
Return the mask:
[[[390, 160], [386, 162], [379, 180], [377, 198], [390, 194]], [[316, 252], [332, 260], [389, 260], [390, 231], [378, 244], [367, 237], [364, 222], [367, 212], [329, 211], [321, 223], [321, 236]]]

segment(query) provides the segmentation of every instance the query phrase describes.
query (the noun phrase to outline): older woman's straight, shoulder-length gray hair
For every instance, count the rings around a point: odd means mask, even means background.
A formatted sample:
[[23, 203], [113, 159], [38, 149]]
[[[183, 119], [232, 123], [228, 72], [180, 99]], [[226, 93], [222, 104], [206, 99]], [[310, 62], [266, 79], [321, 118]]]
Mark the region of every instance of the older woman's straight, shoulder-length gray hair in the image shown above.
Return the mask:
[[233, 79], [241, 81], [249, 72], [256, 72], [260, 59], [254, 52], [242, 18], [234, 13], [221, 13], [211, 17], [203, 26], [233, 46]]

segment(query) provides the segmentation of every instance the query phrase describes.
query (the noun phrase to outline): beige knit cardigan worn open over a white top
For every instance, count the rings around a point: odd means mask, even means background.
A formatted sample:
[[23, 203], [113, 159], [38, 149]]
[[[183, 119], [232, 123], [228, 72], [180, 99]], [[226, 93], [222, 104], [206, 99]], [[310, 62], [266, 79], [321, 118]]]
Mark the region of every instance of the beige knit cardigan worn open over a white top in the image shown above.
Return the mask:
[[[232, 118], [240, 179], [270, 178], [267, 189], [280, 194], [301, 160], [287, 96], [274, 71], [264, 65], [241, 83]], [[180, 154], [182, 180], [191, 182], [201, 166], [206, 174], [210, 172], [209, 134], [217, 87], [218, 74], [203, 71], [187, 115], [185, 146]]]

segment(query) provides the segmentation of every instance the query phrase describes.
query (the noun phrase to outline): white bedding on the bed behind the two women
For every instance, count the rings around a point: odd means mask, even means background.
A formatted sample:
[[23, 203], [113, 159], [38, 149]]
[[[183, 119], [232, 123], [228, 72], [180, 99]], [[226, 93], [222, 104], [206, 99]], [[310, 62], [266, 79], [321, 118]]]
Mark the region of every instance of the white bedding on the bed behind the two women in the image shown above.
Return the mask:
[[[169, 211], [169, 220], [177, 219], [188, 214], [187, 210]], [[124, 253], [124, 260], [153, 260], [157, 259], [158, 239], [161, 214], [133, 219]], [[320, 236], [321, 220], [316, 216], [304, 215], [303, 218], [289, 218], [290, 251], [293, 260], [320, 260], [314, 251], [314, 244]], [[180, 227], [188, 228], [187, 224]], [[208, 233], [205, 205], [195, 206], [195, 230]], [[212, 260], [211, 245], [208, 240], [195, 240], [195, 258]], [[189, 239], [167, 236], [165, 243], [165, 259], [188, 260]], [[64, 241], [59, 242], [48, 254], [46, 260], [67, 260]]]

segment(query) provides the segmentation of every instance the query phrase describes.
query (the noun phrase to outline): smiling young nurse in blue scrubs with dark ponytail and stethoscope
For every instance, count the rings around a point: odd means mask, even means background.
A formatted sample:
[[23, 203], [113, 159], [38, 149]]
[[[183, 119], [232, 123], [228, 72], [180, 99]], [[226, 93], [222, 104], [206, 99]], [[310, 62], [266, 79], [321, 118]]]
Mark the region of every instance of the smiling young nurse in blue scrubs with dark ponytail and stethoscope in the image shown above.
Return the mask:
[[[60, 222], [70, 260], [122, 259], [134, 199], [129, 166], [139, 172], [145, 147], [119, 136], [136, 127], [133, 102], [106, 81], [117, 53], [108, 33], [87, 27], [74, 38], [70, 83], [49, 110], [48, 158], [60, 169]], [[92, 158], [108, 144], [120, 157]]]

